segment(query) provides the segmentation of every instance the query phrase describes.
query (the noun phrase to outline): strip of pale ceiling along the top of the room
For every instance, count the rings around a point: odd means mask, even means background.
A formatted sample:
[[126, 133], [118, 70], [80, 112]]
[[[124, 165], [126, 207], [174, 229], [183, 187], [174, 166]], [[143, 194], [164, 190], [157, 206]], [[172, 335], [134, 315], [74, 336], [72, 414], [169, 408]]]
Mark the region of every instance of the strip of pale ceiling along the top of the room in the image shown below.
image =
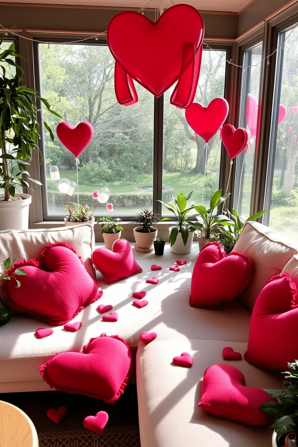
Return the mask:
[[[164, 8], [173, 4], [190, 4], [199, 11], [241, 13], [255, 0], [163, 0]], [[1, 0], [1, 3], [73, 4], [119, 8], [158, 8], [159, 0]]]

